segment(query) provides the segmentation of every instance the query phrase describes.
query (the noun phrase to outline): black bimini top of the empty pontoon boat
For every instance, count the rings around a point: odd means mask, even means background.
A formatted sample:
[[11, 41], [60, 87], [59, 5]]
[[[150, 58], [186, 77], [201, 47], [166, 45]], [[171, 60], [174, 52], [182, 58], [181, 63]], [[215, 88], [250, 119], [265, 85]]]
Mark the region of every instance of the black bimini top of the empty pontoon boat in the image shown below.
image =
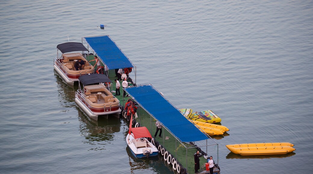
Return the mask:
[[111, 80], [104, 74], [87, 74], [82, 75], [78, 80], [85, 86], [96, 83], [106, 83], [111, 82]]

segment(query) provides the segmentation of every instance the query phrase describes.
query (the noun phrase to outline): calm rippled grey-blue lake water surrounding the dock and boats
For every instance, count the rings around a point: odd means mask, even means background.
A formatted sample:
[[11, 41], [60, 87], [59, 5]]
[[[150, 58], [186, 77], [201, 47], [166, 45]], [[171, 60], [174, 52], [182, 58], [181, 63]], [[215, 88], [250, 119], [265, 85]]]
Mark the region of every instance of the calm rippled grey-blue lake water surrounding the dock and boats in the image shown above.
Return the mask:
[[[127, 123], [90, 121], [77, 87], [54, 73], [68, 36], [106, 34], [136, 65], [137, 84], [222, 118], [222, 173], [313, 172], [313, 1], [11, 0], [0, 19], [0, 173], [172, 173], [160, 159], [135, 161]], [[225, 147], [263, 142], [296, 150], [240, 157]]]

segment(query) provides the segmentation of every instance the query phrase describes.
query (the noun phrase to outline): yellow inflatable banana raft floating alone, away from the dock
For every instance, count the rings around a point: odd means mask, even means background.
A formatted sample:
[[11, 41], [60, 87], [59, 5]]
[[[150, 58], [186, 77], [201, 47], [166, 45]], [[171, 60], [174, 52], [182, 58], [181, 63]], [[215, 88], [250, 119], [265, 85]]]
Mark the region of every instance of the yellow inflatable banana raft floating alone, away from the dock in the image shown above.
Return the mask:
[[231, 144], [226, 147], [233, 153], [240, 155], [280, 155], [293, 152], [291, 143], [249, 143]]

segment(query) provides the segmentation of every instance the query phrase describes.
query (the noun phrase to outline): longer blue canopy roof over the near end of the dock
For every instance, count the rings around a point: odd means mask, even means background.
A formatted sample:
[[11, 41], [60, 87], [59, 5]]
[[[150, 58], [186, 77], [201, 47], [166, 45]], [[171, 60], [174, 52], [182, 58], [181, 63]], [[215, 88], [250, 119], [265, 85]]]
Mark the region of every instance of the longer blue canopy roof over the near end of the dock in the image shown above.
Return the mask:
[[134, 86], [125, 88], [125, 90], [180, 141], [194, 142], [208, 139], [152, 85]]

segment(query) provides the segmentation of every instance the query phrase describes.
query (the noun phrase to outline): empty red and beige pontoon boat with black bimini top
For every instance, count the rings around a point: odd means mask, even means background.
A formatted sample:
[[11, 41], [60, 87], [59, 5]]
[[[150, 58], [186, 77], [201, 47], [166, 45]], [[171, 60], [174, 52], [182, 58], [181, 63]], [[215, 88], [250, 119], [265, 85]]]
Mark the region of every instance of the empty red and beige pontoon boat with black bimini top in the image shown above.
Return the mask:
[[[108, 118], [109, 114], [119, 117], [120, 101], [108, 89], [111, 80], [104, 74], [88, 74], [78, 78], [79, 89], [75, 92], [75, 102], [90, 118]], [[81, 85], [83, 87], [81, 87]]]

